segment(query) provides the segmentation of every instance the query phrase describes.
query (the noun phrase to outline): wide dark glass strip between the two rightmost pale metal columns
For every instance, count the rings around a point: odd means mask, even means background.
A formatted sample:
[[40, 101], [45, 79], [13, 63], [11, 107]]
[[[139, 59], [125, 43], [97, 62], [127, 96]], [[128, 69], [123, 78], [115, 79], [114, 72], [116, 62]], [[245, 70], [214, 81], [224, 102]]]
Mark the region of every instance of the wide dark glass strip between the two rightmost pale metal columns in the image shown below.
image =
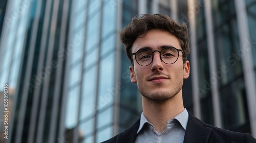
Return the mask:
[[246, 112], [241, 56], [238, 53], [240, 41], [234, 1], [212, 1], [212, 13], [217, 59], [216, 78], [220, 90], [223, 128], [239, 130], [247, 125], [247, 130], [241, 131], [249, 132], [249, 124], [246, 124], [249, 118]]

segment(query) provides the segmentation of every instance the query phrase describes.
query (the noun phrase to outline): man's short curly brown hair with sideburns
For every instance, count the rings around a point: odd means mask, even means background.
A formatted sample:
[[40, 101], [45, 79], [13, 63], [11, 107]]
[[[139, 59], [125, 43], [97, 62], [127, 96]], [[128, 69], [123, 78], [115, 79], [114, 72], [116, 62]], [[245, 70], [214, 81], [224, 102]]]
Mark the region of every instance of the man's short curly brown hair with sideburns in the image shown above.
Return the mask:
[[132, 65], [132, 45], [134, 41], [141, 35], [145, 36], [147, 31], [152, 29], [168, 31], [178, 38], [183, 52], [183, 62], [185, 63], [189, 54], [189, 36], [186, 24], [175, 21], [164, 14], [142, 14], [140, 17], [134, 17], [132, 22], [120, 32], [121, 42], [124, 44], [126, 55]]

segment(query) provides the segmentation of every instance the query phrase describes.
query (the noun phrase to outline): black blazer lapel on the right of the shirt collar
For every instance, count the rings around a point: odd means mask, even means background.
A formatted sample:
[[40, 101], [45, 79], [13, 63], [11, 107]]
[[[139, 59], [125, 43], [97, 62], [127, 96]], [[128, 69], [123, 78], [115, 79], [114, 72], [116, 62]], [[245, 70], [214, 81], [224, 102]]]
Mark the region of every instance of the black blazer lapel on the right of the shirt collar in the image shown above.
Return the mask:
[[188, 122], [184, 142], [207, 142], [211, 128], [188, 112]]

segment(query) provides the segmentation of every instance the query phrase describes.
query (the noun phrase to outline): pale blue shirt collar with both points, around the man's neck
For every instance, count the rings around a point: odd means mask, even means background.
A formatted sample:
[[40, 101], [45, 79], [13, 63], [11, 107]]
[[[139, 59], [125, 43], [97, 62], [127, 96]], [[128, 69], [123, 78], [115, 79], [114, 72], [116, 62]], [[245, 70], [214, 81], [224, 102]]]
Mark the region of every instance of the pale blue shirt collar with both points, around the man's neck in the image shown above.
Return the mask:
[[[181, 124], [182, 128], [184, 130], [186, 130], [186, 127], [187, 127], [187, 121], [188, 121], [188, 112], [186, 110], [186, 108], [184, 108], [184, 110], [178, 114], [176, 117], [174, 117], [177, 121], [179, 121], [179, 123]], [[170, 119], [172, 120], [172, 119]], [[169, 120], [169, 121], [170, 121]], [[145, 125], [145, 123], [148, 123], [148, 124], [151, 124], [150, 122], [148, 122], [146, 120], [146, 117], [144, 116], [143, 112], [141, 113], [141, 116], [140, 116], [140, 126], [139, 126], [139, 129], [137, 131], [137, 134], [140, 132], [140, 130], [143, 128], [143, 126]]]

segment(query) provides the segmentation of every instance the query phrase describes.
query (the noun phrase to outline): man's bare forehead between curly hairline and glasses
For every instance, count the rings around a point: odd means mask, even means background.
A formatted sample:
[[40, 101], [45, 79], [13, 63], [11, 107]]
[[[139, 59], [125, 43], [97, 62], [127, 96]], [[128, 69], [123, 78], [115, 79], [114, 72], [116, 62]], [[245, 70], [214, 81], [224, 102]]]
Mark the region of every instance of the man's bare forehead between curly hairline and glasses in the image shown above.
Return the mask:
[[173, 46], [177, 49], [181, 49], [178, 38], [173, 34], [154, 29], [146, 33], [144, 37], [138, 37], [132, 46], [132, 53], [142, 49], [143, 47], [148, 47], [152, 50], [160, 50], [163, 46]]

